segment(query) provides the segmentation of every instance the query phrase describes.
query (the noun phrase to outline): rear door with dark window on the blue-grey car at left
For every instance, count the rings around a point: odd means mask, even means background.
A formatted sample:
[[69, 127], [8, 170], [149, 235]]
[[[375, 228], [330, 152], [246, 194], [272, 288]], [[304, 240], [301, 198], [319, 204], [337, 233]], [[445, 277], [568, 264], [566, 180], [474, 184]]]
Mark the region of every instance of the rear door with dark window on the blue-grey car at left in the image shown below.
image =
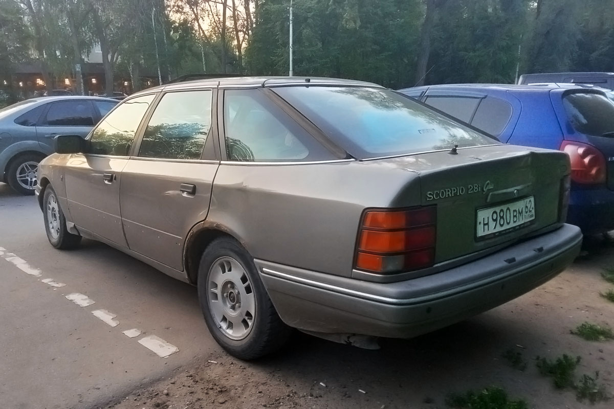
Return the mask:
[[42, 150], [53, 153], [53, 139], [58, 135], [86, 137], [97, 122], [97, 115], [89, 99], [70, 99], [47, 104], [36, 124], [36, 136]]

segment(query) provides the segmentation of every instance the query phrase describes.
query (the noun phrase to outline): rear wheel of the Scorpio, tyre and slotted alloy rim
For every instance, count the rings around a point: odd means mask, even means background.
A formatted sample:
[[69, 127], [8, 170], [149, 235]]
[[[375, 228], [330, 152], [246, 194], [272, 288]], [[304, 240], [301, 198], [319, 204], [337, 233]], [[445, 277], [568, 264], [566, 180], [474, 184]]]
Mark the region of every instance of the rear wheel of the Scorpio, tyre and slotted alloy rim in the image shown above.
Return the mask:
[[209, 332], [239, 359], [279, 350], [291, 334], [279, 318], [254, 259], [230, 238], [214, 240], [198, 267], [198, 299]]

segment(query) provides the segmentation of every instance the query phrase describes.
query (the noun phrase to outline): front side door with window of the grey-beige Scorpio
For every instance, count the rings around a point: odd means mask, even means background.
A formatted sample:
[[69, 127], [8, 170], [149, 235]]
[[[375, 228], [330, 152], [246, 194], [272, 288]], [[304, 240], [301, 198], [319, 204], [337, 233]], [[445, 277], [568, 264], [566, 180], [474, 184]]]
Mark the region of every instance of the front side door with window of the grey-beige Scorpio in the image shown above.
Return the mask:
[[119, 200], [122, 170], [154, 98], [147, 94], [119, 105], [91, 132], [87, 153], [71, 155], [64, 167], [72, 221], [120, 247], [127, 246]]

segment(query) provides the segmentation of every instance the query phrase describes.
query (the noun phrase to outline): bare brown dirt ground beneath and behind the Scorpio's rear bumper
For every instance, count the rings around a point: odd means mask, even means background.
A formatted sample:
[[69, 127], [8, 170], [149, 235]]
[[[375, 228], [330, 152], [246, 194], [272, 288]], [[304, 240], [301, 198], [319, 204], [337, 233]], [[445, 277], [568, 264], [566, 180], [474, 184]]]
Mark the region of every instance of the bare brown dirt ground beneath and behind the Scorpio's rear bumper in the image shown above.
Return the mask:
[[[450, 394], [497, 386], [530, 408], [614, 408], [614, 400], [580, 402], [573, 390], [555, 389], [535, 366], [537, 356], [580, 356], [575, 377], [599, 371], [597, 382], [614, 393], [614, 341], [570, 334], [585, 321], [614, 326], [614, 303], [599, 295], [614, 288], [600, 275], [614, 267], [614, 247], [587, 247], [588, 255], [546, 285], [432, 334], [381, 340], [379, 351], [297, 334], [284, 351], [257, 362], [220, 351], [105, 407], [443, 409]], [[521, 354], [524, 371], [502, 357], [508, 350]]]

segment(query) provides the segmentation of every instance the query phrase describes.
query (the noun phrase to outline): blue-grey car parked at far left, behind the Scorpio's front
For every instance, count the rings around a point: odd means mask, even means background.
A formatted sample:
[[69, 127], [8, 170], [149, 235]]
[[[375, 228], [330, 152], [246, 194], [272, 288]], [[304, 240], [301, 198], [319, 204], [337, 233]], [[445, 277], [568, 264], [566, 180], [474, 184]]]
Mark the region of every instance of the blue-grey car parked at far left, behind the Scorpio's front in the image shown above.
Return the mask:
[[53, 138], [87, 136], [115, 105], [117, 101], [106, 98], [51, 96], [0, 109], [0, 182], [34, 194], [38, 163], [53, 153]]

